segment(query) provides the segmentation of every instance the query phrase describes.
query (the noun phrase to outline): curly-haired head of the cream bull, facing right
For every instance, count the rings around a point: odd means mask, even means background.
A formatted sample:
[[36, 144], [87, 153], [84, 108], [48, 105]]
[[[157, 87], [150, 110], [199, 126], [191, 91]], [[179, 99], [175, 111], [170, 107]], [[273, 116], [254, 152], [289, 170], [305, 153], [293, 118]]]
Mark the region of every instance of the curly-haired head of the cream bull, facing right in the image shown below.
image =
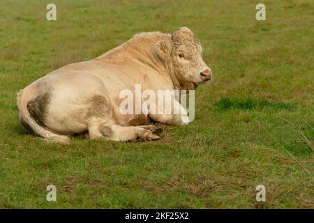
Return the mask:
[[171, 40], [160, 40], [157, 52], [170, 64], [170, 72], [174, 72], [181, 89], [195, 89], [211, 79], [211, 69], [202, 59], [200, 40], [190, 29], [182, 27], [172, 33]]

